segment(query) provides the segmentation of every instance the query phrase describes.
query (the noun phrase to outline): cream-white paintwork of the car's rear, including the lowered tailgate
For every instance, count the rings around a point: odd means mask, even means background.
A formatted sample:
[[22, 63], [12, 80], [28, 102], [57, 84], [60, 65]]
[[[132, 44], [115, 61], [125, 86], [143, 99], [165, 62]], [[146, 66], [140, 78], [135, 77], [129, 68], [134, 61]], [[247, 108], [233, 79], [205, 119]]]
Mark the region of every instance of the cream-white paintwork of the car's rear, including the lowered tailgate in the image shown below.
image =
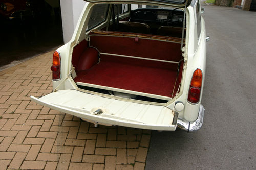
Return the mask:
[[[64, 80], [67, 77], [70, 70], [72, 69], [72, 65], [71, 65], [72, 50], [76, 44], [78, 44], [81, 40], [86, 38], [86, 34], [87, 34], [86, 26], [89, 20], [87, 16], [90, 14], [91, 12], [90, 9], [92, 6], [93, 6], [93, 3], [87, 3], [84, 6], [82, 14], [78, 20], [78, 25], [75, 28], [74, 34], [71, 38], [71, 41], [69, 41], [67, 44], [63, 45], [58, 49], [58, 52], [60, 53], [60, 56], [61, 56], [62, 79], [60, 81], [54, 81], [53, 88], [56, 88], [62, 82], [62, 80]], [[118, 96], [112, 96], [112, 95], [101, 94], [96, 92], [90, 92], [91, 94], [86, 94], [84, 92], [89, 92], [89, 91], [81, 90], [77, 88], [71, 76], [69, 76], [67, 80], [58, 87], [59, 91], [51, 93], [40, 99], [36, 99], [32, 97], [32, 100], [42, 105], [51, 107], [53, 109], [66, 112], [68, 114], [72, 114], [78, 117], [82, 117], [84, 119], [88, 119], [92, 122], [94, 121], [94, 122], [101, 122], [104, 124], [121, 125], [121, 126], [129, 126], [129, 127], [136, 127], [136, 128], [155, 129], [155, 130], [167, 130], [167, 129], [175, 130], [175, 127], [171, 125], [172, 123], [170, 123], [172, 122], [171, 121], [172, 117], [165, 117], [165, 116], [169, 114], [171, 110], [175, 109], [175, 103], [182, 102], [184, 104], [183, 105], [184, 107], [182, 106], [176, 107], [176, 111], [179, 113], [179, 120], [184, 120], [186, 122], [194, 122], [195, 120], [197, 120], [199, 115], [200, 104], [201, 104], [202, 93], [203, 93], [203, 85], [204, 85], [204, 79], [205, 79], [205, 66], [206, 66], [206, 44], [205, 44], [206, 33], [205, 33], [204, 20], [203, 18], [201, 18], [201, 22], [202, 22], [201, 35], [198, 39], [195, 11], [196, 11], [196, 5], [189, 6], [186, 9], [187, 28], [186, 28], [186, 37], [185, 37], [186, 42], [184, 47], [185, 54], [183, 55], [185, 65], [183, 68], [182, 82], [180, 85], [179, 94], [176, 97], [169, 99], [169, 102], [153, 103], [153, 102], [146, 102], [146, 101], [136, 101], [133, 99], [124, 99]], [[106, 25], [106, 22], [103, 22], [96, 28], [101, 29], [105, 27], [105, 25]], [[197, 104], [190, 104], [187, 101], [188, 90], [189, 90], [190, 81], [191, 81], [193, 72], [197, 68], [200, 68], [203, 74], [201, 97], [200, 97], [200, 101]], [[74, 95], [72, 98], [71, 95], [74, 94], [74, 92], [72, 92], [71, 94], [65, 96], [66, 99], [62, 97], [59, 98], [59, 94], [61, 93], [61, 91], [63, 92], [63, 90], [68, 90], [68, 89], [77, 90], [79, 95], [83, 97], [79, 98], [76, 95]], [[59, 99], [60, 101], [53, 100], [50, 98], [48, 99], [48, 96], [49, 97], [52, 96], [53, 98], [58, 97], [56, 99]], [[93, 99], [92, 96], [97, 98], [97, 100], [92, 100]], [[154, 97], [155, 96], [152, 95], [152, 98]], [[79, 100], [76, 100], [76, 99], [79, 99]], [[92, 100], [92, 101], [89, 105], [86, 104], [88, 108], [83, 109], [81, 107], [84, 105], [83, 102], [88, 100]], [[69, 103], [72, 101], [73, 102], [75, 101], [74, 104], [77, 106], [74, 106], [73, 104]], [[105, 104], [112, 101], [114, 101], [115, 105], [110, 104], [106, 107]], [[126, 106], [126, 104], [128, 103], [131, 104], [129, 105], [129, 109], [124, 108], [123, 106]], [[148, 110], [147, 112], [143, 111], [143, 115], [146, 115], [146, 119], [143, 119], [145, 117], [141, 116], [138, 110], [144, 108], [145, 106], [150, 106], [150, 110]], [[76, 107], [78, 107], [79, 109]], [[106, 110], [105, 114], [93, 115], [92, 111], [94, 111], [97, 108], [105, 109]], [[124, 109], [125, 114], [121, 114], [121, 112], [120, 113], [114, 112], [113, 110], [117, 110], [117, 108]], [[162, 112], [162, 114], [160, 115], [159, 113], [163, 108], [165, 108], [165, 111], [164, 113]], [[155, 115], [154, 114], [155, 112], [158, 115]], [[115, 116], [111, 115], [111, 113], [115, 113]], [[172, 114], [169, 114], [168, 116], [170, 115]], [[164, 122], [165, 121], [164, 119], [166, 119], [166, 122]], [[159, 121], [161, 120], [163, 122], [161, 121], [157, 122], [157, 120]]]

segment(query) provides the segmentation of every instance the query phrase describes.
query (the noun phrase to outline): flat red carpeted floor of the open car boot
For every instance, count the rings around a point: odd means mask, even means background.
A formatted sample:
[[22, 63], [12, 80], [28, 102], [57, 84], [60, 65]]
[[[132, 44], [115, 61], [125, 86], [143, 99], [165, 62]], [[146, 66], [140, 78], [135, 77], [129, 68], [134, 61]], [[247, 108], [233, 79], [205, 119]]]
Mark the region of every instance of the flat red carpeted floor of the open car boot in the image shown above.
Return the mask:
[[171, 97], [176, 77], [174, 70], [101, 61], [74, 81]]

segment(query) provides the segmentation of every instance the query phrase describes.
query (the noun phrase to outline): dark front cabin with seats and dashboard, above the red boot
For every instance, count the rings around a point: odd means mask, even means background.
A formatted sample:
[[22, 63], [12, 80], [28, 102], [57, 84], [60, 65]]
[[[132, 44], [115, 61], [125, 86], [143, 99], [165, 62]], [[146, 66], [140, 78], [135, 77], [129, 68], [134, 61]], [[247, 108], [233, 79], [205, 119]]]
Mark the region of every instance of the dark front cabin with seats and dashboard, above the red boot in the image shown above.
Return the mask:
[[129, 17], [119, 18], [118, 12], [121, 11], [118, 8], [121, 6], [114, 5], [113, 9], [117, 8], [117, 10], [112, 11], [112, 25], [108, 30], [181, 38], [184, 11], [178, 8], [150, 7], [131, 10]]

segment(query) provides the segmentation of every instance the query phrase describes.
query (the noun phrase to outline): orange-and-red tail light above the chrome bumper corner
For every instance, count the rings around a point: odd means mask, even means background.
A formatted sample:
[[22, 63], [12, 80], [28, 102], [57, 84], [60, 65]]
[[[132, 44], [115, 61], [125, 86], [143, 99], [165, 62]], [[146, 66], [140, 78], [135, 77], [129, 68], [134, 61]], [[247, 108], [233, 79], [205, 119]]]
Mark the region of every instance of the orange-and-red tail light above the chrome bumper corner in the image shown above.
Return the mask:
[[187, 100], [190, 103], [197, 103], [200, 99], [200, 93], [201, 93], [201, 86], [202, 86], [202, 71], [201, 69], [196, 69], [194, 71], [193, 77], [191, 79], [189, 92], [188, 92], [188, 98]]

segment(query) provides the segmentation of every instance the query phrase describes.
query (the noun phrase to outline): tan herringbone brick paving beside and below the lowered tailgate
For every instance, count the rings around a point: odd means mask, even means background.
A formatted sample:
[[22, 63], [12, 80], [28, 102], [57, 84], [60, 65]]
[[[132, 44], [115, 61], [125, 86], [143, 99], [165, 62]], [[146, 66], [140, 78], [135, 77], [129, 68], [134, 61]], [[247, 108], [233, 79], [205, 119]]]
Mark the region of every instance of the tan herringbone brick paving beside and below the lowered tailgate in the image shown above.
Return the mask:
[[52, 54], [0, 72], [0, 169], [144, 169], [150, 130], [94, 127], [30, 101], [52, 92]]

